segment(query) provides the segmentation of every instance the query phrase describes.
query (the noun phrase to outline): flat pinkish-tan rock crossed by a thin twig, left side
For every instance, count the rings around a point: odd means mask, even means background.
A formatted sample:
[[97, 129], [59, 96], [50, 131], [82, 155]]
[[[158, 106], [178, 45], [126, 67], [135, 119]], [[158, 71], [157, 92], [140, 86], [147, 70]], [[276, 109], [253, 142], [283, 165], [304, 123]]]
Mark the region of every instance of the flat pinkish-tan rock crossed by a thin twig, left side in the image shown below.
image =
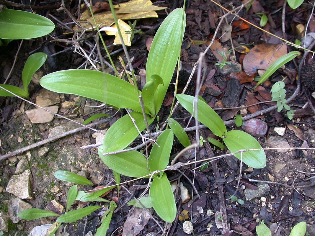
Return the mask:
[[[44, 107], [44, 108], [54, 113], [58, 112], [58, 106]], [[27, 110], [25, 111], [25, 113], [27, 117], [30, 119], [30, 121], [32, 122], [32, 124], [47, 123], [47, 122], [53, 121], [55, 117], [55, 115], [41, 108]]]

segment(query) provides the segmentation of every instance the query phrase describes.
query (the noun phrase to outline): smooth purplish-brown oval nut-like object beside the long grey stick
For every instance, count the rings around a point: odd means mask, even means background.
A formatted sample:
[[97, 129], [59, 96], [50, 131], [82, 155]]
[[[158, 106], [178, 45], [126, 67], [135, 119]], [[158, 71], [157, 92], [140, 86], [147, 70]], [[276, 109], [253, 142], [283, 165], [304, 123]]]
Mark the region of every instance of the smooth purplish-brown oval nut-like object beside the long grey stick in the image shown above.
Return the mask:
[[263, 137], [267, 133], [268, 125], [265, 121], [252, 118], [247, 121], [243, 121], [242, 129], [254, 137]]

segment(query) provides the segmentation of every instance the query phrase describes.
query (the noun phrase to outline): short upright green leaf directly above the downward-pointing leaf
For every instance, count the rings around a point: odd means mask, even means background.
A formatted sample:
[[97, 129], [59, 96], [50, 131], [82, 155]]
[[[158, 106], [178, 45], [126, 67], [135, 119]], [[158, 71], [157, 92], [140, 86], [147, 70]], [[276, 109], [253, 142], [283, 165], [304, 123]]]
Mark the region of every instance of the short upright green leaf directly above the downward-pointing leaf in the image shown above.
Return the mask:
[[[149, 169], [151, 172], [164, 170], [169, 164], [169, 156], [173, 147], [174, 134], [170, 129], [164, 130], [154, 143], [149, 156]], [[163, 172], [154, 174], [162, 176]]]

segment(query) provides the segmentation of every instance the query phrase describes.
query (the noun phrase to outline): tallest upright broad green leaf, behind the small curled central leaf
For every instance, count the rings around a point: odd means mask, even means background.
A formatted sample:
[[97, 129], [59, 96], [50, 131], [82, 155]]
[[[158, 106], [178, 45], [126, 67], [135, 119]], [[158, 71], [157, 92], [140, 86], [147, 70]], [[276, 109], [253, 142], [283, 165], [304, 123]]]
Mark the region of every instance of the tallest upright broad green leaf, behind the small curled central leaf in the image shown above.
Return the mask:
[[165, 18], [152, 41], [146, 62], [146, 79], [151, 81], [152, 75], [163, 79], [163, 85], [159, 85], [154, 94], [156, 112], [161, 108], [172, 79], [180, 55], [185, 25], [186, 14], [182, 8], [177, 8]]

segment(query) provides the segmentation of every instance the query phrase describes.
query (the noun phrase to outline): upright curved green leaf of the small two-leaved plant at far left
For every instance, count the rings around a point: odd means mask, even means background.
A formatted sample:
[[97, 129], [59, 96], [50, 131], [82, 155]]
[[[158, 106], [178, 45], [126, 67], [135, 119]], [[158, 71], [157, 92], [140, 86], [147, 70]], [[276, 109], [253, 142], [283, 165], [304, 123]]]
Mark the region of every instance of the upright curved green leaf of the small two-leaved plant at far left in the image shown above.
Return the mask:
[[23, 87], [27, 95], [27, 87], [31, 82], [33, 74], [45, 63], [46, 58], [47, 55], [45, 53], [34, 53], [27, 58], [22, 71]]

